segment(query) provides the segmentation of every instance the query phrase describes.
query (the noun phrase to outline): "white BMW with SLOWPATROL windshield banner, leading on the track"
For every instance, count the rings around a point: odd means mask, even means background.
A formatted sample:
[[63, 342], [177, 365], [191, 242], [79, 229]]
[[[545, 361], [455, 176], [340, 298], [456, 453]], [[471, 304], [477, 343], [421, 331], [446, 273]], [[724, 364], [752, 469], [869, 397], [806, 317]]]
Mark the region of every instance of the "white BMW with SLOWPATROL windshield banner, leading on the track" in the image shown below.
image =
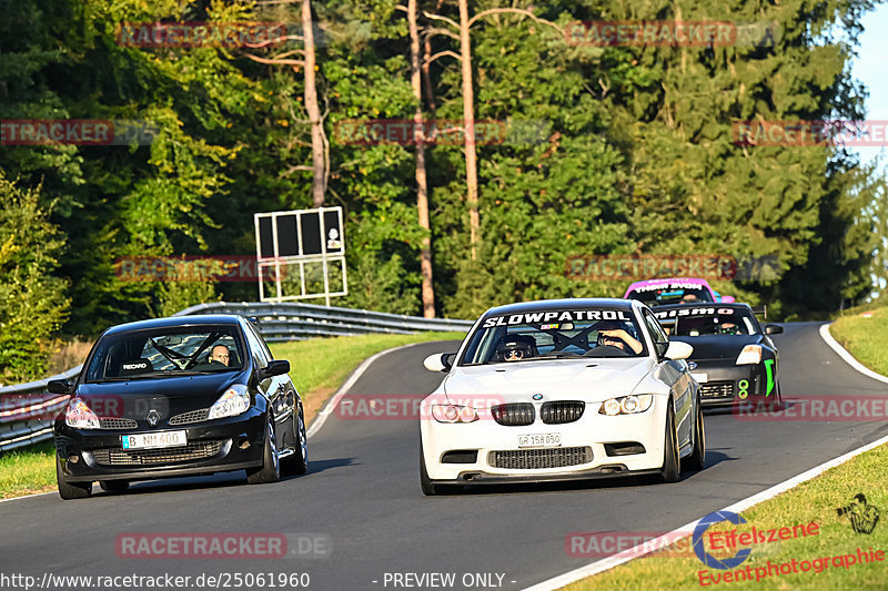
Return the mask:
[[420, 481], [541, 482], [629, 475], [678, 480], [704, 466], [698, 385], [685, 343], [627, 299], [549, 299], [488, 309], [421, 405]]

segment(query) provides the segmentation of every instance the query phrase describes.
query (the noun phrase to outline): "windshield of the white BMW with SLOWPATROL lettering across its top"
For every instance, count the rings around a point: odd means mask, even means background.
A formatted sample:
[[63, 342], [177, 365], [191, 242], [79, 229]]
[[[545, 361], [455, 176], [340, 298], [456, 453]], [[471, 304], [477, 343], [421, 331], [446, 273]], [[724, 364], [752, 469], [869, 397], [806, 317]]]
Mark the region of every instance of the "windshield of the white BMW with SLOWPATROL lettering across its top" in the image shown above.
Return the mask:
[[544, 309], [485, 318], [460, 365], [643, 355], [644, 337], [632, 312]]

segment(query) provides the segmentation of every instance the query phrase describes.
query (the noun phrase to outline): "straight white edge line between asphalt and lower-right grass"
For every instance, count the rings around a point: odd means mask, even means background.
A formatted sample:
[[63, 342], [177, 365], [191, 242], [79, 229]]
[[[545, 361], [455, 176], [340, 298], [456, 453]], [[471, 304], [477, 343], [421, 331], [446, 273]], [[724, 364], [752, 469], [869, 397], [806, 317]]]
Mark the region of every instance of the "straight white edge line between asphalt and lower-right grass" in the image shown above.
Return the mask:
[[[720, 511], [733, 511], [735, 513], [745, 511], [746, 509], [749, 509], [750, 507], [758, 505], [761, 501], [766, 501], [768, 499], [776, 497], [777, 495], [780, 495], [781, 492], [786, 492], [790, 488], [798, 486], [801, 482], [805, 482], [806, 480], [810, 480], [811, 478], [821, 475], [826, 470], [835, 468], [840, 463], [845, 463], [855, 456], [859, 456], [864, 451], [869, 451], [870, 449], [878, 447], [882, 444], [888, 444], [888, 436], [882, 437], [881, 439], [878, 439], [876, 441], [872, 441], [871, 444], [867, 444], [862, 447], [859, 447], [855, 450], [851, 450], [845, 454], [844, 456], [839, 456], [838, 458], [824, 462], [820, 466], [816, 466], [806, 472], [801, 472], [800, 475], [790, 478], [789, 480], [784, 480], [783, 482], [775, 485], [767, 490], [763, 490], [761, 492], [758, 492], [756, 495], [753, 495], [751, 497], [747, 497], [743, 500], [739, 500], [734, 505], [729, 505], [724, 509], [720, 509]], [[624, 550], [618, 554], [607, 557], [604, 560], [598, 560], [597, 562], [593, 562], [592, 564], [587, 564], [576, 570], [565, 572], [564, 574], [553, 577], [552, 579], [547, 579], [533, 587], [528, 587], [523, 591], [552, 591], [554, 589], [561, 589], [564, 585], [574, 583], [581, 579], [585, 579], [586, 577], [598, 574], [599, 572], [613, 569], [614, 567], [628, 562], [629, 560], [633, 560], [635, 558], [640, 558], [645, 553], [645, 548], [648, 549], [647, 553], [649, 553], [653, 551], [652, 549], [657, 549], [668, 543], [672, 543], [678, 537], [693, 534], [694, 528], [697, 526], [700, 519], [696, 519], [690, 523], [682, 526], [680, 528], [676, 528], [668, 533], [664, 533], [663, 536], [656, 538], [655, 540], [647, 541], [644, 544], [636, 546], [635, 548], [629, 548], [628, 550]]]

